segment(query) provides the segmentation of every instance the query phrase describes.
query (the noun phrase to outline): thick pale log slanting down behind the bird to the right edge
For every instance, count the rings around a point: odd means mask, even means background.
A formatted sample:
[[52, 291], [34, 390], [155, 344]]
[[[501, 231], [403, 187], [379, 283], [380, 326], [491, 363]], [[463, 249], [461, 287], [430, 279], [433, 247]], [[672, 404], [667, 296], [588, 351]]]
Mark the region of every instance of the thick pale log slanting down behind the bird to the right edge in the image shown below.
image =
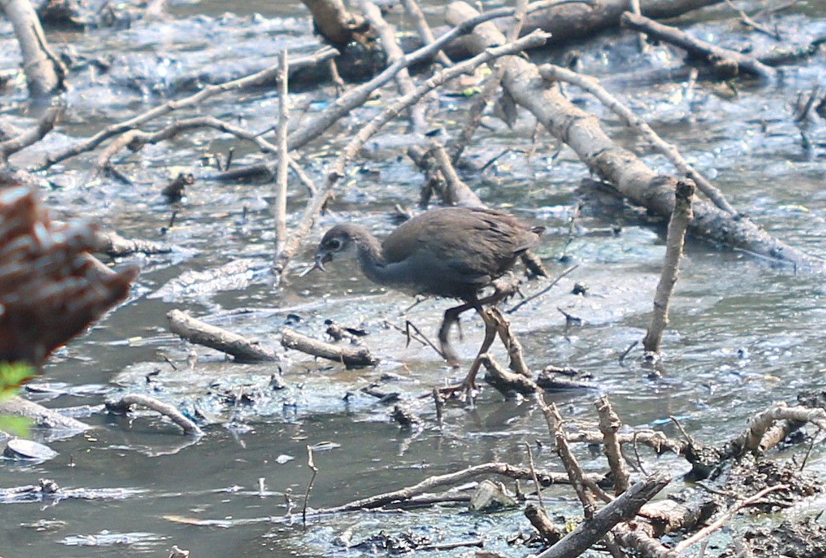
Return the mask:
[[[453, 2], [448, 21], [458, 23], [477, 12], [465, 2]], [[504, 37], [496, 27], [483, 23], [468, 37], [474, 52], [501, 44]], [[596, 117], [571, 103], [557, 86], [544, 83], [539, 69], [518, 56], [501, 59], [506, 71], [502, 83], [516, 103], [527, 108], [560, 141], [569, 145], [592, 173], [613, 184], [626, 198], [649, 211], [670, 216], [674, 206], [675, 176], [661, 176], [605, 134]], [[731, 215], [703, 200], [694, 204], [694, 221], [689, 231], [695, 236], [720, 242], [794, 265], [822, 270], [824, 265], [809, 255], [778, 241], [746, 218]]]

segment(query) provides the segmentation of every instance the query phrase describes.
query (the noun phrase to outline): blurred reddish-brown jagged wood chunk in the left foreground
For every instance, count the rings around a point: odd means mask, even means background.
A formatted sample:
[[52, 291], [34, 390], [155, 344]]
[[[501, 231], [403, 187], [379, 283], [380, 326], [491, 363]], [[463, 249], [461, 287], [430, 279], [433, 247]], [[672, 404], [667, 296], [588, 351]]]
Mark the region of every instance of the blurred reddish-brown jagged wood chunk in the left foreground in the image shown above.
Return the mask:
[[0, 361], [40, 368], [126, 298], [137, 267], [107, 268], [97, 244], [88, 223], [52, 222], [31, 188], [0, 188]]

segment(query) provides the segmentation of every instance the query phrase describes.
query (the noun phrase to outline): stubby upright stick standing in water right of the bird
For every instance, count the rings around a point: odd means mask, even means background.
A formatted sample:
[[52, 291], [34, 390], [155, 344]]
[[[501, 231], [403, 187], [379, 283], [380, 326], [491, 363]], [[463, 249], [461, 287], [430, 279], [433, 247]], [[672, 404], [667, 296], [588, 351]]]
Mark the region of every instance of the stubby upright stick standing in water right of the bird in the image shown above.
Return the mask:
[[662, 332], [668, 325], [668, 306], [671, 303], [674, 285], [680, 271], [682, 246], [686, 242], [686, 229], [694, 218], [691, 211], [691, 198], [694, 197], [694, 182], [681, 180], [676, 183], [674, 211], [668, 222], [666, 238], [666, 255], [662, 263], [662, 274], [654, 294], [654, 311], [651, 325], [643, 338], [646, 352], [659, 353]]

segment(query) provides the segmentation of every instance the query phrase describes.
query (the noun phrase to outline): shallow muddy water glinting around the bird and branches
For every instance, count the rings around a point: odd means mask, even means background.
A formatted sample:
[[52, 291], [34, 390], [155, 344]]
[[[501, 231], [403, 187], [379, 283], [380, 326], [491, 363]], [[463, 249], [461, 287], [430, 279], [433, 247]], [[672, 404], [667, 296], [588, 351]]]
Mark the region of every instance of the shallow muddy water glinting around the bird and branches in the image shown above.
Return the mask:
[[[440, 3], [430, 2], [428, 13], [437, 14]], [[75, 136], [189, 94], [169, 86], [180, 75], [204, 66], [245, 64], [255, 57], [274, 62], [282, 48], [306, 53], [317, 44], [298, 2], [172, 4], [173, 18], [164, 21], [135, 21], [121, 30], [50, 34], [53, 43], [70, 44], [81, 57], [108, 53], [116, 69], [90, 79], [91, 70], [78, 66], [72, 75], [76, 85], [69, 93], [68, 121], [12, 162], [36, 165], [45, 150]], [[826, 21], [807, 22], [794, 12], [783, 18], [788, 25], [805, 23], [812, 35], [822, 31]], [[733, 23], [730, 27], [745, 33]], [[676, 64], [679, 58], [663, 49], [645, 60], [619, 60], [619, 54], [615, 60], [613, 53], [633, 52], [635, 44], [633, 37], [618, 37], [601, 40], [610, 49], [584, 50], [578, 45], [582, 71], [605, 78], [663, 60]], [[16, 53], [11, 28], [0, 21], [0, 69], [14, 68], [19, 62]], [[136, 79], [141, 72], [141, 79]], [[808, 91], [823, 80], [824, 57], [815, 55], [803, 66], [785, 69], [776, 86], [738, 83], [737, 95], [706, 82], [697, 84], [690, 100], [681, 93], [683, 83], [641, 87], [626, 82], [615, 84], [613, 90], [714, 177], [734, 207], [791, 245], [824, 257], [826, 126], [822, 120], [811, 122], [807, 135], [812, 147], [805, 150], [790, 110], [799, 90]], [[577, 103], [605, 112], [575, 88], [568, 90]], [[311, 117], [333, 94], [329, 86], [293, 94], [293, 107], [298, 107], [293, 117]], [[31, 123], [25, 107], [14, 105], [25, 98], [25, 90], [13, 85], [0, 91], [4, 116], [17, 125]], [[351, 135], [376, 112], [378, 103], [344, 118], [335, 132]], [[445, 94], [432, 104], [434, 126], [444, 125], [454, 134], [469, 100]], [[274, 124], [277, 107], [273, 91], [257, 90], [210, 99], [198, 112], [263, 130]], [[638, 143], [619, 129], [615, 118], [607, 122], [626, 145]], [[491, 119], [491, 125], [496, 121]], [[577, 219], [581, 234], [569, 239], [568, 219], [587, 170], [571, 150], [558, 153], [557, 141], [547, 134], [540, 134], [535, 152], [526, 155], [533, 148], [533, 130], [533, 119], [526, 113], [520, 113], [513, 131], [482, 130], [468, 153], [477, 168], [508, 151], [484, 172], [468, 170], [463, 178], [491, 206], [548, 227], [537, 252], [552, 277], [578, 264], [550, 293], [510, 315], [534, 370], [553, 364], [591, 373], [629, 426], [661, 428], [678, 436], [667, 420], [676, 416], [691, 436], [710, 444], [739, 432], [748, 417], [768, 404], [791, 403], [800, 390], [823, 385], [822, 276], [701, 241], [686, 246], [672, 322], [663, 341], [664, 374], [649, 378], [638, 364], [638, 350], [620, 364], [619, 355], [642, 339], [648, 325], [664, 253], [664, 227], [627, 207], [617, 211], [586, 203]], [[427, 347], [415, 342], [406, 346], [406, 337], [396, 328], [410, 320], [434, 336], [448, 301], [429, 300], [408, 309], [411, 298], [369, 284], [346, 262], [331, 265], [327, 274], [297, 276], [297, 270], [311, 263], [321, 232], [331, 224], [361, 222], [386, 234], [394, 227], [394, 204], [415, 207], [421, 177], [403, 156], [404, 147], [395, 145], [404, 126], [399, 123], [386, 132], [363, 159], [350, 165], [331, 212], [320, 218], [293, 262], [292, 273], [278, 286], [259, 277], [225, 291], [164, 289], [185, 271], [214, 269], [234, 258], [263, 265], [271, 255], [272, 184], [221, 183], [214, 179], [214, 167], [202, 165], [205, 154], [225, 154], [230, 146], [237, 147], [236, 166], [267, 160], [250, 145], [214, 131], [147, 145], [114, 160], [131, 179], [128, 186], [108, 177], [90, 180], [88, 168], [95, 153], [41, 174], [53, 186], [44, 188], [46, 203], [59, 216], [92, 219], [124, 236], [168, 241], [176, 250], [136, 259], [143, 272], [131, 298], [88, 335], [59, 351], [26, 393], [50, 407], [76, 408], [93, 429], [64, 439], [34, 432], [58, 452], [52, 460], [0, 460], [0, 555], [168, 556], [173, 545], [198, 557], [365, 556], [373, 551], [383, 555], [387, 551], [371, 537], [378, 532], [398, 537], [408, 531], [410, 537], [433, 544], [482, 539], [488, 550], [509, 556], [539, 550], [507, 544], [516, 534], [530, 532], [519, 510], [486, 514], [443, 506], [349, 513], [301, 523], [303, 495], [311, 478], [308, 445], [316, 446], [319, 470], [311, 508], [399, 489], [481, 462], [526, 465], [526, 443], [539, 466], [562, 470], [552, 451], [536, 445], [538, 440], [548, 441], [548, 432], [542, 414], [529, 402], [505, 400], [487, 387], [473, 407], [449, 405], [444, 427], [439, 428], [430, 399], [416, 398], [460, 379], [463, 371], [449, 370]], [[303, 150], [306, 157], [301, 160], [318, 183], [325, 163], [346, 141], [333, 134], [325, 137]], [[645, 160], [672, 172], [657, 155]], [[180, 170], [196, 174], [197, 182], [185, 203], [170, 206], [160, 190]], [[289, 200], [291, 223], [305, 201], [305, 190], [296, 185]], [[173, 211], [178, 212], [175, 226], [162, 236], [161, 228]], [[621, 227], [616, 236], [588, 233], [615, 226]], [[567, 258], [560, 261], [563, 254]], [[572, 294], [575, 283], [586, 284], [586, 296]], [[526, 284], [525, 294], [543, 286]], [[186, 360], [192, 346], [169, 333], [166, 313], [174, 308], [254, 336], [279, 351], [282, 327], [322, 338], [325, 320], [332, 319], [367, 331], [363, 343], [382, 364], [343, 370], [288, 351], [278, 365], [237, 365], [216, 351], [194, 347], [199, 358], [190, 370]], [[233, 312], [241, 308], [245, 311]], [[566, 327], [558, 308], [582, 318], [582, 325]], [[463, 318], [463, 334], [456, 346], [468, 362], [481, 340], [480, 320]], [[501, 349], [496, 355], [504, 360]], [[273, 389], [271, 376], [279, 372], [287, 387]], [[385, 374], [392, 374], [392, 379], [382, 381], [381, 389], [409, 398], [425, 419], [420, 432], [401, 430], [389, 417], [392, 405], [359, 391]], [[197, 441], [181, 436], [177, 427], [152, 413], [114, 417], [102, 411], [105, 398], [127, 392], [150, 393], [201, 417], [206, 436]], [[596, 393], [553, 393], [548, 400], [558, 403], [567, 418], [594, 419]], [[586, 448], [577, 451], [587, 470], [605, 469], [600, 455]], [[643, 453], [643, 459], [649, 470], [687, 469], [684, 461], [668, 455], [657, 459]], [[816, 450], [809, 467], [822, 473], [824, 465]], [[37, 484], [38, 479], [53, 479], [77, 492], [59, 501], [2, 492]], [[287, 515], [287, 500], [295, 505], [292, 516]], [[576, 498], [567, 489], [549, 490], [545, 502], [577, 517]], [[439, 556], [472, 556], [472, 551], [457, 548]]]

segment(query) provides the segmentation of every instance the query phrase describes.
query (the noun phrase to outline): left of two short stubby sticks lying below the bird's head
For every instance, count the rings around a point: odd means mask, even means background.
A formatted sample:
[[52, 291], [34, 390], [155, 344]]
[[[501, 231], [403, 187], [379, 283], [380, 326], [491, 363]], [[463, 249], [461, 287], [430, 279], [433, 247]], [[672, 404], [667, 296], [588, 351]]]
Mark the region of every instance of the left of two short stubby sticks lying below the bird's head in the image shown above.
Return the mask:
[[211, 326], [206, 322], [188, 316], [180, 310], [167, 313], [169, 329], [190, 343], [203, 345], [232, 355], [235, 362], [265, 362], [278, 360], [272, 348], [261, 345], [259, 341], [240, 336], [221, 327]]

